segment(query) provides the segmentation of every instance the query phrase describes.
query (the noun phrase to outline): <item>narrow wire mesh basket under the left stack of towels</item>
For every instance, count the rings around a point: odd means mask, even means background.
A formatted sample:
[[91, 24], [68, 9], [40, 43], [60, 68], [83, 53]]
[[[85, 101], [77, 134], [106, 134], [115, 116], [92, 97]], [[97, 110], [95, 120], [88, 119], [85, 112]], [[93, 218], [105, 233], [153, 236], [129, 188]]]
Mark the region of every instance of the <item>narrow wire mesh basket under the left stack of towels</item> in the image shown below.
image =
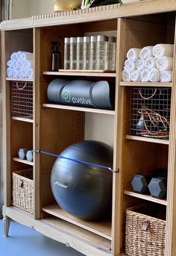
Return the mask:
[[12, 116], [33, 119], [33, 83], [12, 81]]

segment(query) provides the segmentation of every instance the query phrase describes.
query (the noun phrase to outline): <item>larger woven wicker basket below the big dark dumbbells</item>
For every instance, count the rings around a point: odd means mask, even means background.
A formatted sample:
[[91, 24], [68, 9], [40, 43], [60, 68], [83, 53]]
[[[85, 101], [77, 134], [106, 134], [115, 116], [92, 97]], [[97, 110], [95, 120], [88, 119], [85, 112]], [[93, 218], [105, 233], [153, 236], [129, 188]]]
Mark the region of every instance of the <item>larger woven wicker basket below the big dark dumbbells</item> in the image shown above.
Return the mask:
[[165, 210], [156, 210], [156, 207], [148, 204], [126, 210], [125, 252], [127, 255], [165, 255], [166, 220], [163, 220], [166, 219], [165, 212]]

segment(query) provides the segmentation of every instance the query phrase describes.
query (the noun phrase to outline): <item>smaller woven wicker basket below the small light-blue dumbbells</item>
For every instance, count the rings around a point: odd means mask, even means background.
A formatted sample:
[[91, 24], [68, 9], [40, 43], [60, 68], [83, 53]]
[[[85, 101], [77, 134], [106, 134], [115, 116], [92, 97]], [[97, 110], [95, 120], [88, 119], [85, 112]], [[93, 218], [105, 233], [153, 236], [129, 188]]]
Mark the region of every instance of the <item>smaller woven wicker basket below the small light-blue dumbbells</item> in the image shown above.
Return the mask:
[[13, 172], [13, 205], [34, 212], [33, 169]]

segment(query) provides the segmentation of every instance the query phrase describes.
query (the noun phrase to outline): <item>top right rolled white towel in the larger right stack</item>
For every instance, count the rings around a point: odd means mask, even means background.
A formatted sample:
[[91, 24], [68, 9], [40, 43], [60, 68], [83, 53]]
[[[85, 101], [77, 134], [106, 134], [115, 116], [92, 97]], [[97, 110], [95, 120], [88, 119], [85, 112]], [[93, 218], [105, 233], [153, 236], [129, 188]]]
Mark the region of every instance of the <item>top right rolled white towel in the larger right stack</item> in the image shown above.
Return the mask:
[[172, 44], [164, 44], [158, 43], [153, 48], [154, 57], [162, 57], [162, 56], [169, 56], [173, 57], [174, 54], [174, 45]]

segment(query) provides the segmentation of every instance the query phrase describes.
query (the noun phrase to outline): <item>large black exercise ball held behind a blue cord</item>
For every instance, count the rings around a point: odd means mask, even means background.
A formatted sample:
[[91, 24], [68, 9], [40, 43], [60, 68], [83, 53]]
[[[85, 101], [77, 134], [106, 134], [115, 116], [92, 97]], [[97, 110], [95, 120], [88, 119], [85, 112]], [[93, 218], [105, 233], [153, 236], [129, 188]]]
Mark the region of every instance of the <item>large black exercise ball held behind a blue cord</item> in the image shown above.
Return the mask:
[[[106, 143], [84, 140], [74, 143], [62, 157], [113, 166], [113, 149]], [[51, 170], [51, 190], [57, 204], [84, 220], [110, 216], [113, 173], [110, 169], [57, 157]]]

